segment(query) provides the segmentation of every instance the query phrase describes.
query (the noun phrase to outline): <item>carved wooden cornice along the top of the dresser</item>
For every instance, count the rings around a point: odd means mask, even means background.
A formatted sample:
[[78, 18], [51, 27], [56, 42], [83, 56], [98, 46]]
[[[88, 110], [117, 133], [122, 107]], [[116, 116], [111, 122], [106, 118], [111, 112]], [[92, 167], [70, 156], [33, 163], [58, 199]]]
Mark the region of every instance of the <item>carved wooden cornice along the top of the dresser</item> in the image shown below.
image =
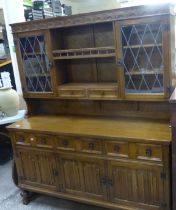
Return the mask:
[[[149, 5], [149, 6], [136, 6], [127, 7], [114, 10], [107, 10], [101, 12], [92, 12], [87, 14], [79, 14], [65, 17], [49, 18], [46, 20], [29, 21], [25, 23], [12, 24], [12, 31], [14, 32], [25, 32], [35, 31], [46, 28], [60, 28], [67, 26], [109, 22], [114, 20], [124, 19], [138, 19], [141, 17], [152, 17], [155, 15], [163, 16], [167, 14], [174, 14], [174, 7], [169, 4], [161, 5]], [[54, 20], [54, 21], [53, 21]]]

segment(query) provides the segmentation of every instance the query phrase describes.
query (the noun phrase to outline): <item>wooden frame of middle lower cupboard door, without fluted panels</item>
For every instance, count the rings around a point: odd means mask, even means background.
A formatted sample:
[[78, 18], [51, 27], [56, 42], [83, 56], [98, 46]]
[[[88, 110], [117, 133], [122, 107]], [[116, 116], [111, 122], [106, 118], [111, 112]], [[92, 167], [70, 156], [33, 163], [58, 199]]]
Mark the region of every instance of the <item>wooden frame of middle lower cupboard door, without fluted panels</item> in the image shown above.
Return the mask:
[[[61, 160], [61, 166], [62, 166], [62, 177], [64, 180], [64, 184], [63, 184], [63, 192], [67, 195], [78, 195], [81, 196], [83, 198], [90, 198], [90, 199], [96, 199], [96, 200], [108, 200], [108, 191], [107, 191], [107, 186], [106, 183], [103, 185], [100, 181], [100, 186], [101, 186], [101, 190], [102, 190], [102, 194], [101, 195], [96, 195], [94, 193], [89, 193], [86, 192], [86, 186], [85, 186], [85, 180], [84, 180], [84, 174], [83, 174], [83, 163], [91, 163], [91, 164], [97, 164], [100, 166], [100, 173], [101, 173], [101, 179], [106, 178], [106, 169], [105, 169], [105, 161], [102, 159], [96, 159], [96, 158], [91, 158], [89, 156], [83, 156], [83, 155], [71, 155], [69, 153], [62, 153], [59, 154], [59, 158]], [[80, 191], [69, 191], [69, 189], [66, 189], [66, 180], [65, 180], [65, 174], [64, 174], [64, 163], [63, 161], [65, 160], [73, 160], [77, 162], [77, 166], [78, 166], [78, 170], [80, 172], [80, 185], [81, 185], [81, 190]], [[97, 180], [95, 180], [97, 181]]]

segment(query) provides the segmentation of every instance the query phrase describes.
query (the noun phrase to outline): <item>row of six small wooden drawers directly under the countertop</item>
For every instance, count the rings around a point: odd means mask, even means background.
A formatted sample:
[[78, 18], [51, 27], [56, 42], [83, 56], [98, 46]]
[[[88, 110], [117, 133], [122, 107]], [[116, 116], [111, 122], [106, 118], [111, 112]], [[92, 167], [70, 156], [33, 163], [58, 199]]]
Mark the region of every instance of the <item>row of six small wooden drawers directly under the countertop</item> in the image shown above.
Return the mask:
[[121, 158], [162, 161], [163, 148], [158, 144], [131, 143], [119, 140], [100, 140], [42, 134], [16, 133], [16, 145], [82, 152]]

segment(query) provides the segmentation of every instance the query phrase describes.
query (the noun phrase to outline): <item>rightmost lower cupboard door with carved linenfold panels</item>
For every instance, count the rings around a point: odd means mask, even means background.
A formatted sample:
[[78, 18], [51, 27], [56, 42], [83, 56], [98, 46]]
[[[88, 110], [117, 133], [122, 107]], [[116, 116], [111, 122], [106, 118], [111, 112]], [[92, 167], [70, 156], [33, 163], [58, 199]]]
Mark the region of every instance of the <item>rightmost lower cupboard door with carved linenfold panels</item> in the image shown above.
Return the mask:
[[110, 161], [109, 176], [112, 202], [142, 209], [150, 205], [150, 210], [160, 209], [162, 205], [169, 206], [164, 201], [162, 167]]

